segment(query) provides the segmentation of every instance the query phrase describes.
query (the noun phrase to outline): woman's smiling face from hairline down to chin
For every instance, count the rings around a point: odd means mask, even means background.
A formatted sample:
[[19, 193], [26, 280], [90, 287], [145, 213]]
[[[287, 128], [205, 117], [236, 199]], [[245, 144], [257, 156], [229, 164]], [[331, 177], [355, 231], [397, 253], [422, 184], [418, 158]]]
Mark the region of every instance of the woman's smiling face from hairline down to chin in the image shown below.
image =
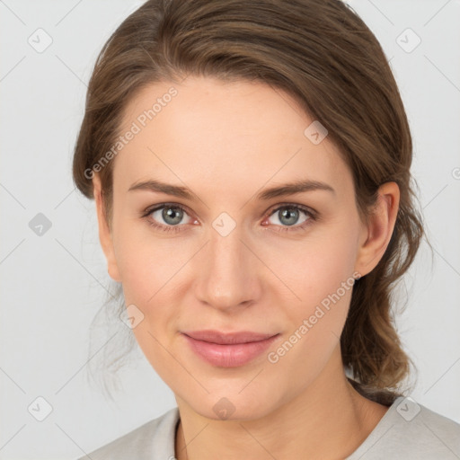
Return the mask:
[[[146, 358], [205, 417], [261, 417], [312, 385], [340, 350], [354, 274], [385, 251], [364, 244], [351, 173], [328, 137], [305, 135], [313, 121], [280, 90], [209, 77], [151, 84], [125, 112], [120, 135], [136, 132], [112, 159], [102, 246]], [[308, 181], [323, 187], [268, 193]], [[202, 330], [273, 338], [183, 333]]]

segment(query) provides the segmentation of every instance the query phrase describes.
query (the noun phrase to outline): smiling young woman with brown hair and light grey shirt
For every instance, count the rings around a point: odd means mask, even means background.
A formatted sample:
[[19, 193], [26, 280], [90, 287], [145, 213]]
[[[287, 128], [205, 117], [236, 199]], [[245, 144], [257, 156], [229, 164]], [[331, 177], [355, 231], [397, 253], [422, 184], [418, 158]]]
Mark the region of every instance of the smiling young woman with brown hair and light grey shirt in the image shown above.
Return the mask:
[[177, 408], [97, 458], [456, 458], [403, 397], [411, 133], [340, 0], [151, 0], [103, 47], [75, 146], [128, 323]]

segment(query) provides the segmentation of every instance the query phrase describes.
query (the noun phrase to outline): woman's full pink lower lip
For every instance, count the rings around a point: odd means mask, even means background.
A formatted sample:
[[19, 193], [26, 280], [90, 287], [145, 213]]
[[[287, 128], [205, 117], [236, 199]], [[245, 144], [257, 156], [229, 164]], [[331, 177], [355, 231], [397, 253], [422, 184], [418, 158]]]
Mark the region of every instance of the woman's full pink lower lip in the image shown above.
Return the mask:
[[234, 345], [221, 345], [208, 341], [197, 341], [190, 336], [182, 334], [190, 344], [191, 349], [204, 358], [209, 364], [217, 367], [239, 367], [258, 357], [268, 349], [279, 334], [264, 341], [251, 341], [236, 343]]

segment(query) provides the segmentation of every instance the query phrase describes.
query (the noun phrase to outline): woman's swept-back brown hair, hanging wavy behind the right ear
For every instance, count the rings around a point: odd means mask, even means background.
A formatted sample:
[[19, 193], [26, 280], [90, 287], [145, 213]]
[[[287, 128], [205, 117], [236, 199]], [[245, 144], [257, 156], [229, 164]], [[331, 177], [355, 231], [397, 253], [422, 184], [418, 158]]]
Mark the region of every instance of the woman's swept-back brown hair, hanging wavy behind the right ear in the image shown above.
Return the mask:
[[[393, 295], [424, 230], [414, 206], [410, 127], [376, 37], [341, 0], [147, 1], [112, 33], [93, 69], [73, 163], [85, 197], [93, 198], [87, 172], [115, 144], [128, 102], [148, 84], [188, 75], [260, 82], [292, 96], [338, 146], [363, 222], [378, 187], [399, 186], [391, 240], [376, 268], [356, 281], [341, 334], [353, 385], [370, 399], [395, 397], [411, 360], [395, 328]], [[100, 168], [109, 225], [112, 169], [113, 161]]]

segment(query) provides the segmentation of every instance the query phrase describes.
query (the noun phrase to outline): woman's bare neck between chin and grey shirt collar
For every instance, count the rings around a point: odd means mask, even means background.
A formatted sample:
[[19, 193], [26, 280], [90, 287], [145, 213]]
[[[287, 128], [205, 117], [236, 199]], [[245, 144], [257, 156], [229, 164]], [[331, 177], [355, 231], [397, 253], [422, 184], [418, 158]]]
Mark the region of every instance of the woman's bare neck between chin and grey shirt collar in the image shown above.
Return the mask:
[[349, 456], [388, 408], [358, 394], [345, 376], [339, 348], [334, 355], [305, 391], [259, 419], [211, 420], [176, 395], [181, 414], [176, 458], [319, 460]]

